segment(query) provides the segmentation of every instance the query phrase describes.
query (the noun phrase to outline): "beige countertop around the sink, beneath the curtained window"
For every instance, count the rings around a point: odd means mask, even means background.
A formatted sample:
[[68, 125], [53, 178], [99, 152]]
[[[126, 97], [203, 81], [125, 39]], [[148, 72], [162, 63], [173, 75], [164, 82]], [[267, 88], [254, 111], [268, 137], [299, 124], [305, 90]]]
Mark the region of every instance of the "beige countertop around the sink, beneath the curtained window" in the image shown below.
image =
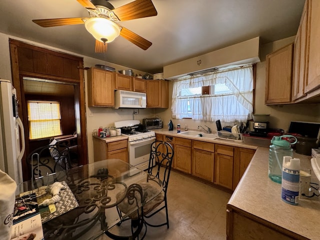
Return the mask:
[[[194, 129], [192, 129], [192, 130], [194, 130]], [[176, 132], [176, 129], [174, 129], [172, 131], [169, 131], [167, 129], [161, 128], [161, 129], [152, 129], [152, 131], [154, 131], [155, 133], [165, 134], [165, 135], [168, 135], [168, 136], [176, 136], [176, 137], [188, 138], [188, 139], [198, 140], [198, 141], [207, 141], [207, 142], [225, 144], [225, 145], [230, 145], [230, 146], [245, 147], [245, 148], [250, 148], [250, 149], [256, 149], [257, 148], [257, 146], [249, 145], [249, 144], [246, 144], [246, 143], [243, 143], [243, 142], [239, 142], [239, 141], [233, 141], [233, 140], [227, 140], [227, 139], [224, 140], [224, 139], [220, 139], [220, 138], [209, 139], [209, 138], [205, 138], [205, 137], [178, 134]], [[183, 131], [181, 131], [181, 132], [183, 132]], [[199, 133], [201, 133], [201, 132], [199, 131]]]

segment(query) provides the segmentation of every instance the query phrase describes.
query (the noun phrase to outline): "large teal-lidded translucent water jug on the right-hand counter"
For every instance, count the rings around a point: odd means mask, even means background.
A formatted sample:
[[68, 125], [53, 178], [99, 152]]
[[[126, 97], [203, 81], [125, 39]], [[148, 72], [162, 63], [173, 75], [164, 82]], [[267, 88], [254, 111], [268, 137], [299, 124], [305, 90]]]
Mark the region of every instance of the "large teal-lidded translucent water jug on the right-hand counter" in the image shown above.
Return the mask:
[[[293, 137], [294, 142], [290, 143], [282, 137]], [[296, 143], [296, 138], [292, 135], [273, 136], [272, 145], [269, 147], [269, 170], [268, 176], [272, 181], [281, 183], [282, 178], [282, 159], [283, 156], [293, 156], [293, 149], [290, 144]]]

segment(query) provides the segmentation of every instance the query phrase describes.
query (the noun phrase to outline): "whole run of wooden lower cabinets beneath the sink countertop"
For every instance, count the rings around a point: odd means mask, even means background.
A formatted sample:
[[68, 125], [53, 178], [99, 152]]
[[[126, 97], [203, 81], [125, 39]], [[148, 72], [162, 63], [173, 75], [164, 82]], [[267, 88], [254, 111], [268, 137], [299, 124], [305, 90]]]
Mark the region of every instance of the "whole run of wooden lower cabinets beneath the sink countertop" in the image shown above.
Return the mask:
[[172, 168], [234, 190], [255, 149], [156, 133], [174, 149]]

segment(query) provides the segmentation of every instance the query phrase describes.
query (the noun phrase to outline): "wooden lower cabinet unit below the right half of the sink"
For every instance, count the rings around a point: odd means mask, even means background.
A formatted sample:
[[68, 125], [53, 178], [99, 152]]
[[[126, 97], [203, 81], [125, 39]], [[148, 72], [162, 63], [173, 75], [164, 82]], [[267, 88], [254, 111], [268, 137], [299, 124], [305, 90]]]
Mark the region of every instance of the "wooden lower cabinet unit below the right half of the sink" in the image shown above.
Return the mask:
[[213, 182], [214, 143], [192, 141], [192, 171], [191, 174]]

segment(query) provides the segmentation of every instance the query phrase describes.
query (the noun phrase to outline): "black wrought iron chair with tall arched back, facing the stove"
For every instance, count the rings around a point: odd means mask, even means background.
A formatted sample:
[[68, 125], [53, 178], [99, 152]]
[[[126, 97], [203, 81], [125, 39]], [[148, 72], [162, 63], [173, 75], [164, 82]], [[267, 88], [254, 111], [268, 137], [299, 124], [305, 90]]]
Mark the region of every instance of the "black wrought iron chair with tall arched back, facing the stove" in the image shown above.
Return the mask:
[[[147, 170], [147, 172], [149, 173], [149, 176], [148, 176], [147, 182], [139, 183], [139, 185], [142, 188], [143, 198], [145, 198], [149, 195], [150, 191], [154, 190], [154, 186], [149, 182], [152, 180], [157, 181], [158, 179], [161, 179], [163, 184], [162, 192], [152, 200], [146, 202], [142, 208], [131, 213], [128, 216], [129, 218], [126, 218], [123, 220], [139, 219], [139, 214], [140, 214], [143, 217], [143, 224], [145, 225], [145, 228], [147, 227], [147, 225], [152, 227], [166, 225], [167, 228], [169, 228], [166, 191], [167, 191], [167, 186], [169, 182], [173, 155], [174, 155], [174, 151], [170, 143], [165, 141], [159, 141], [159, 140], [156, 140], [151, 143], [149, 167]], [[163, 203], [163, 205], [161, 207], [158, 207], [161, 203]], [[126, 204], [120, 203], [118, 204], [117, 207], [118, 207], [119, 214], [121, 214], [121, 212], [123, 213], [127, 212]], [[162, 209], [165, 209], [165, 216], [166, 216], [165, 222], [154, 225], [146, 221], [146, 218], [149, 218], [155, 215], [157, 212], [161, 211]], [[143, 236], [141, 237], [141, 239], [144, 238], [145, 233], [146, 233], [146, 230]]]

